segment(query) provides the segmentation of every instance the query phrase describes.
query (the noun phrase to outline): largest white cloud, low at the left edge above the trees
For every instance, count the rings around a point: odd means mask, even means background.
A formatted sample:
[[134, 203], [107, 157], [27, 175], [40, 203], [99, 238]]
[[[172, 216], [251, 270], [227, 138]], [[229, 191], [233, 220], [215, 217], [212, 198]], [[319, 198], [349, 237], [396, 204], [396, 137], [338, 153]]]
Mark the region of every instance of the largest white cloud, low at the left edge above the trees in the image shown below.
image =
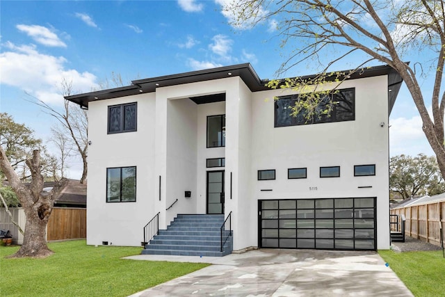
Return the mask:
[[63, 56], [41, 54], [35, 45], [6, 42], [3, 47], [8, 50], [0, 53], [0, 84], [21, 88], [48, 104], [63, 103], [59, 89], [63, 79], [72, 81], [76, 92], [97, 88], [94, 74], [66, 69]]

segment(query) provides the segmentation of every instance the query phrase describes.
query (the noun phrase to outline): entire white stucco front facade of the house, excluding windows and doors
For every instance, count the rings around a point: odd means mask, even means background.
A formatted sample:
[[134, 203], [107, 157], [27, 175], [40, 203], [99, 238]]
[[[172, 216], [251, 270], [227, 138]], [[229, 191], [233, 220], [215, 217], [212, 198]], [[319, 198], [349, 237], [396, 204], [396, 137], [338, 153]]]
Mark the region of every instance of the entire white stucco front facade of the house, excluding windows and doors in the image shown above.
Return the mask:
[[[177, 214], [205, 214], [207, 171], [225, 170], [225, 215], [232, 211], [235, 250], [258, 244], [258, 200], [352, 197], [378, 198], [378, 248], [389, 248], [387, 77], [341, 86], [351, 87], [354, 121], [278, 128], [273, 97], [283, 91], [252, 93], [239, 77], [90, 102], [87, 243], [138, 246], [143, 225], [158, 211], [161, 229]], [[188, 99], [218, 93], [226, 94], [225, 102]], [[108, 135], [107, 106], [127, 102], [138, 102], [138, 131]], [[207, 148], [207, 116], [221, 114], [226, 147]], [[206, 168], [206, 159], [222, 157], [225, 168]], [[364, 164], [375, 164], [376, 175], [354, 177], [353, 166]], [[136, 202], [106, 203], [106, 168], [120, 166], [137, 166]], [[320, 166], [341, 166], [341, 177], [320, 178]], [[300, 167], [307, 168], [307, 179], [287, 179], [288, 168]], [[258, 181], [257, 170], [264, 169], [275, 169], [276, 179]]]

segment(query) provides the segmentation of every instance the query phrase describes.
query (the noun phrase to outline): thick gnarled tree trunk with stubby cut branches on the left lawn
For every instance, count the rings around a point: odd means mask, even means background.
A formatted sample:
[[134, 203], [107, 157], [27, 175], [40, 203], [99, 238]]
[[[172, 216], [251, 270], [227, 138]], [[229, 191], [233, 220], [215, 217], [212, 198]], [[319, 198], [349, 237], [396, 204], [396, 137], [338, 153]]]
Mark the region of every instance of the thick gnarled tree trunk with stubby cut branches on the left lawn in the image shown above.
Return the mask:
[[25, 186], [8, 161], [3, 147], [0, 146], [0, 169], [8, 178], [17, 198], [22, 204], [26, 215], [23, 244], [12, 257], [47, 257], [53, 252], [49, 250], [46, 239], [46, 228], [60, 191], [65, 188], [67, 179], [62, 179], [49, 192], [43, 192], [44, 178], [40, 171], [40, 152], [33, 151], [31, 159], [26, 160], [31, 170], [31, 185]]

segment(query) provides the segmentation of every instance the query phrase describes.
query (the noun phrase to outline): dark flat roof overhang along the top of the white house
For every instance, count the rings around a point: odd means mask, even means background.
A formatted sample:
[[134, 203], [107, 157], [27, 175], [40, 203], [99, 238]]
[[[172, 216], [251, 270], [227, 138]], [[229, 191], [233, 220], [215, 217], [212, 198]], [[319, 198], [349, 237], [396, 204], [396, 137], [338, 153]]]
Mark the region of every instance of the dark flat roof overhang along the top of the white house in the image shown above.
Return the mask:
[[[346, 75], [348, 75], [350, 71], [351, 70], [344, 70], [336, 73], [345, 73]], [[388, 75], [388, 113], [391, 113], [394, 102], [396, 102], [398, 90], [400, 90], [403, 82], [400, 74], [398, 74], [396, 70], [394, 70], [389, 65], [366, 67], [361, 71], [357, 71], [353, 74], [348, 75], [347, 79], [377, 77], [380, 75]], [[66, 96], [65, 99], [79, 104], [83, 108], [88, 108], [88, 102], [96, 100], [138, 95], [141, 93], [152, 93], [156, 91], [157, 87], [176, 86], [184, 83], [195, 83], [198, 81], [209, 81], [213, 79], [224, 79], [227, 77], [237, 76], [243, 79], [245, 84], [252, 92], [270, 90], [270, 88], [266, 87], [266, 83], [268, 83], [269, 80], [260, 79], [257, 72], [254, 71], [252, 65], [250, 65], [250, 63], [245, 63], [193, 72], [185, 72], [180, 74], [166, 75], [163, 77], [153, 77], [151, 79], [138, 79], [136, 81], [131, 81], [131, 86], [112, 88], [108, 90], [99, 90], [96, 92], [83, 93], [79, 95], [71, 95]], [[309, 75], [301, 78], [309, 79], [312, 77], [316, 77], [316, 75]], [[327, 77], [327, 80], [334, 80], [335, 78], [336, 77]]]

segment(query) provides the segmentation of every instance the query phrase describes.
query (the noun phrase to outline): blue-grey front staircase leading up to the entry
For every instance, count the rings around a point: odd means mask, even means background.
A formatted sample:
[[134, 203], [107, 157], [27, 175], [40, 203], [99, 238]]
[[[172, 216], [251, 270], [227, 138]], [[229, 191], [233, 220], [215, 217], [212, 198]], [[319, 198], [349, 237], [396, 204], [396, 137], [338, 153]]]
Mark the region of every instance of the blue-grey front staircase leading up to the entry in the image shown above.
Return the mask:
[[[233, 239], [229, 236], [220, 247], [220, 228], [223, 214], [178, 214], [167, 227], [159, 230], [142, 251], [143, 255], [181, 255], [222, 257], [233, 250]], [[229, 230], [223, 231], [223, 241]]]

